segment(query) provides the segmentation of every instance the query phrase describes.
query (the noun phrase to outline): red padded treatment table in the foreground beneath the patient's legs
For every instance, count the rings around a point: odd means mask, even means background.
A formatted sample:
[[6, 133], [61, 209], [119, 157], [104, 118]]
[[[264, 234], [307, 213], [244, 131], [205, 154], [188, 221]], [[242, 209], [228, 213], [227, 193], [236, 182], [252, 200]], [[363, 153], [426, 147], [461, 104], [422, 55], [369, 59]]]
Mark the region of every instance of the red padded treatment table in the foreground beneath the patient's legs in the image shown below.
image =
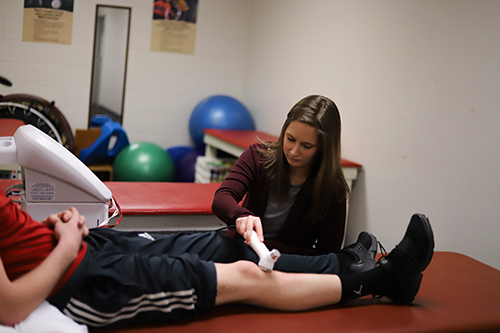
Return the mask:
[[462, 254], [436, 252], [412, 306], [371, 297], [294, 313], [235, 304], [175, 324], [90, 332], [500, 332], [499, 287], [499, 270]]

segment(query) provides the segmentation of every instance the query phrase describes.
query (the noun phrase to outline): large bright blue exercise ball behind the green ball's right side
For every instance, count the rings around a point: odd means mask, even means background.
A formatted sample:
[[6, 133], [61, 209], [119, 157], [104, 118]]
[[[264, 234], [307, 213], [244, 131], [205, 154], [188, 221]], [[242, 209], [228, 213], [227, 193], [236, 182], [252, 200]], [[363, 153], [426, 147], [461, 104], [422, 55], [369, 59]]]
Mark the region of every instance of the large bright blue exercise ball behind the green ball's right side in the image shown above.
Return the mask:
[[198, 103], [189, 119], [189, 134], [197, 149], [203, 149], [203, 130], [208, 128], [255, 130], [248, 109], [237, 99], [215, 95]]

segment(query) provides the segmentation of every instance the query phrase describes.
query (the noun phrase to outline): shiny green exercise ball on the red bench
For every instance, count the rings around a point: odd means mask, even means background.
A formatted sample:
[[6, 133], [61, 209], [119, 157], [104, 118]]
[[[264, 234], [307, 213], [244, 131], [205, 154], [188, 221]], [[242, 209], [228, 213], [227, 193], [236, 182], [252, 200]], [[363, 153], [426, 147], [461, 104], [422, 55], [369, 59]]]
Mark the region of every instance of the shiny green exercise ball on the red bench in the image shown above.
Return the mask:
[[124, 148], [113, 164], [113, 180], [128, 182], [169, 182], [175, 178], [175, 166], [168, 152], [150, 142], [138, 142]]

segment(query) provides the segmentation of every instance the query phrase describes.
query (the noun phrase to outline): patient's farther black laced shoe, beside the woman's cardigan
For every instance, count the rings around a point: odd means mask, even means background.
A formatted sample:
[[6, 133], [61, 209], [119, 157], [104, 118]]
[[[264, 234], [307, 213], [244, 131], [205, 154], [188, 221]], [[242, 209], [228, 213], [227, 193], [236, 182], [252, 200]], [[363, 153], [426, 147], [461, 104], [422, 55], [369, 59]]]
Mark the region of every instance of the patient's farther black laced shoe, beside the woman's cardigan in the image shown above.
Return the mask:
[[366, 231], [360, 233], [356, 243], [342, 249], [355, 258], [344, 273], [359, 273], [376, 267], [377, 244], [377, 238], [371, 233]]

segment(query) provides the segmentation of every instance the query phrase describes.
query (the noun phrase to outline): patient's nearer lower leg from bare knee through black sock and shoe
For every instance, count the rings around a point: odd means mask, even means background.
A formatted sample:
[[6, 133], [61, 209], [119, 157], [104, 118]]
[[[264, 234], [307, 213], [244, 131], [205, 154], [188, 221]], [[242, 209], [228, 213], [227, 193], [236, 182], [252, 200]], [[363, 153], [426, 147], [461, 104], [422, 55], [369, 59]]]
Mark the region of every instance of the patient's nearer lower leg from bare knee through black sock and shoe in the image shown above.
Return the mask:
[[215, 264], [216, 305], [240, 302], [300, 311], [346, 302], [366, 295], [387, 296], [411, 304], [422, 272], [434, 253], [434, 234], [423, 214], [414, 214], [403, 240], [377, 267], [353, 274], [263, 272], [249, 261]]

